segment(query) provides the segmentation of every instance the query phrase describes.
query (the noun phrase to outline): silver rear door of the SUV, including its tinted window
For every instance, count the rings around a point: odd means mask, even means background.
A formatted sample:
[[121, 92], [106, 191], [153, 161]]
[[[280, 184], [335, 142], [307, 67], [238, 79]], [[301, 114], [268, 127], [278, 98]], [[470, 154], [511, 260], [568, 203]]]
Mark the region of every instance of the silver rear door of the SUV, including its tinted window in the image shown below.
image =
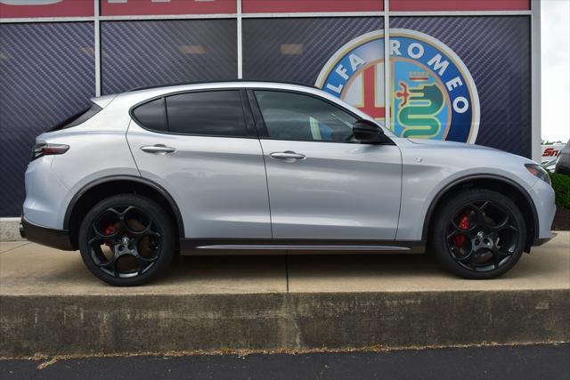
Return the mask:
[[136, 165], [175, 198], [185, 238], [271, 238], [264, 158], [242, 93], [174, 93], [131, 113]]

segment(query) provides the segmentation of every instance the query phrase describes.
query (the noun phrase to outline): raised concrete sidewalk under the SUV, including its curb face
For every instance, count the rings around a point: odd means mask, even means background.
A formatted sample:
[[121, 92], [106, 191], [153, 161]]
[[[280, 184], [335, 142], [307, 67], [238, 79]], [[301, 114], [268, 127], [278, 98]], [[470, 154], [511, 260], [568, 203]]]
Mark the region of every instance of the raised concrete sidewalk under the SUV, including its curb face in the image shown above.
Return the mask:
[[110, 287], [78, 253], [0, 243], [0, 356], [570, 340], [570, 233], [501, 279], [431, 255], [183, 257]]

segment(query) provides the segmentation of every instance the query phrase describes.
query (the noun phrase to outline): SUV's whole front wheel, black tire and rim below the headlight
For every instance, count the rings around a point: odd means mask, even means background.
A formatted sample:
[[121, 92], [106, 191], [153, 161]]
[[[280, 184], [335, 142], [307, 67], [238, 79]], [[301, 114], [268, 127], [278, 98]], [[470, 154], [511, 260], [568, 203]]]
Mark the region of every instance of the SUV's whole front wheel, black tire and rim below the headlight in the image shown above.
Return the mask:
[[466, 190], [438, 210], [430, 246], [446, 269], [464, 279], [494, 279], [509, 271], [525, 248], [523, 214], [492, 190]]

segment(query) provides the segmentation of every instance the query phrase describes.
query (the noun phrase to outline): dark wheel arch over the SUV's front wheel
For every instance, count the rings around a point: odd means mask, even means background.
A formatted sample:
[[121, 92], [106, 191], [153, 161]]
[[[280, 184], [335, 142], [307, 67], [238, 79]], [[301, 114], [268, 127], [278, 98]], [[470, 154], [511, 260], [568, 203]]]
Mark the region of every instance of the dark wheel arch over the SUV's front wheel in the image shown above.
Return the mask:
[[533, 242], [538, 239], [539, 226], [538, 213], [536, 212], [536, 206], [534, 205], [533, 199], [530, 197], [528, 192], [517, 182], [514, 182], [509, 178], [494, 174], [477, 174], [461, 177], [445, 185], [442, 190], [439, 190], [439, 192], [436, 194], [436, 197], [429, 205], [428, 212], [426, 213], [426, 217], [424, 219], [421, 234], [423, 241], [428, 241], [431, 228], [434, 224], [433, 219], [437, 214], [436, 211], [440, 206], [444, 204], [445, 198], [448, 198], [454, 194], [459, 193], [461, 190], [466, 189], [493, 190], [503, 195], [509, 196], [510, 198], [513, 198], [515, 200], [515, 203], [517, 203], [517, 206], [520, 207], [523, 217], [525, 218], [525, 251], [530, 251], [530, 247], [533, 245]]

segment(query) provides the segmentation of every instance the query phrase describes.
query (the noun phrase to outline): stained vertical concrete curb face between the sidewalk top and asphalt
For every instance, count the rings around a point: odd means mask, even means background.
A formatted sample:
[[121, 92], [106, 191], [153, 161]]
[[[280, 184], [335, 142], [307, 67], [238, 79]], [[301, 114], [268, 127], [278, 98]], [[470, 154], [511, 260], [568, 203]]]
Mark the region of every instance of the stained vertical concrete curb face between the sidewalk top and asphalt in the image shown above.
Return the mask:
[[570, 341], [570, 290], [0, 295], [0, 356]]

